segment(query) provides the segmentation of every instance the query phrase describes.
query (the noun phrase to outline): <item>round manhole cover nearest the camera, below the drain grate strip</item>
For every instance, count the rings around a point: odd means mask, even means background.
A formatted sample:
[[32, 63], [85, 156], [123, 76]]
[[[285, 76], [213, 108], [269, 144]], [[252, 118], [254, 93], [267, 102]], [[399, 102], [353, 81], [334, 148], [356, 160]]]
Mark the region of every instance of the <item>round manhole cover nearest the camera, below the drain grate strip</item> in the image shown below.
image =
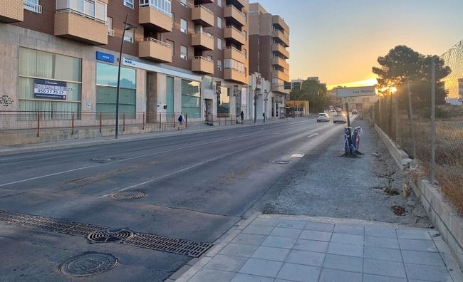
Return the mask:
[[118, 258], [110, 254], [87, 252], [69, 258], [60, 266], [60, 271], [68, 276], [92, 276], [110, 270], [118, 263]]

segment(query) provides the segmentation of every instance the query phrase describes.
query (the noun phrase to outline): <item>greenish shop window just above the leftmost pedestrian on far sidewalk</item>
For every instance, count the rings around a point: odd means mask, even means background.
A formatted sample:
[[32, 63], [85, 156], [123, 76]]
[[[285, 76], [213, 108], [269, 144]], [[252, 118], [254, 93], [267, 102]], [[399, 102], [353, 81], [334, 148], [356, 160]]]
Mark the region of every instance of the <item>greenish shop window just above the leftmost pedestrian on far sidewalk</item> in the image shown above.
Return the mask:
[[201, 85], [197, 81], [182, 79], [182, 113], [188, 117], [201, 117]]

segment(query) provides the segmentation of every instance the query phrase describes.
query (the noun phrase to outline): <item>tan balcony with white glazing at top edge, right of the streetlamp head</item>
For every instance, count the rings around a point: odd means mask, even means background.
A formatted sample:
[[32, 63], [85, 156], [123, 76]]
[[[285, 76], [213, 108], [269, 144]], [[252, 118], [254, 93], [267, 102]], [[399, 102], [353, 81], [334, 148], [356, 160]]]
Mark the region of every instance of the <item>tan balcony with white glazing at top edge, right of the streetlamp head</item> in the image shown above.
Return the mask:
[[[163, 5], [160, 5], [163, 3]], [[172, 31], [172, 13], [170, 1], [149, 0], [147, 4], [140, 4], [138, 9], [138, 23], [159, 32]]]

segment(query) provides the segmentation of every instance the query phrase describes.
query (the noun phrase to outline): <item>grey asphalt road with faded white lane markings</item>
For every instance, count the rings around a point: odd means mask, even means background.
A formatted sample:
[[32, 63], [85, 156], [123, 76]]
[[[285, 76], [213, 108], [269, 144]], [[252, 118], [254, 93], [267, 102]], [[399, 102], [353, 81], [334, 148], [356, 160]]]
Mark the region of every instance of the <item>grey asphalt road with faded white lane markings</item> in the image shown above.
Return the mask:
[[[264, 208], [279, 192], [276, 183], [303, 160], [297, 154], [323, 150], [343, 127], [296, 119], [4, 156], [0, 210], [213, 243]], [[145, 197], [110, 197], [117, 192]], [[68, 281], [58, 267], [85, 251], [112, 254], [119, 263], [85, 281], [163, 281], [191, 259], [126, 244], [89, 244], [85, 236], [63, 233], [0, 221], [0, 280]]]

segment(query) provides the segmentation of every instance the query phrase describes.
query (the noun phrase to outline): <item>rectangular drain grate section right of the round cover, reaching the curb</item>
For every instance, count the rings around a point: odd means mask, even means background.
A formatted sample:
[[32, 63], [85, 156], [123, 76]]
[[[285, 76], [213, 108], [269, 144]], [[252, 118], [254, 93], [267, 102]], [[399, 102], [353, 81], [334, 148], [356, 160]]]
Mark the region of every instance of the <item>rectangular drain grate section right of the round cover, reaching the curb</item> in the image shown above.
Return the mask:
[[192, 256], [197, 258], [204, 254], [213, 244], [188, 241], [182, 239], [172, 239], [152, 234], [137, 233], [132, 239], [123, 241], [123, 244], [137, 246], [156, 251], [168, 251], [174, 254]]

